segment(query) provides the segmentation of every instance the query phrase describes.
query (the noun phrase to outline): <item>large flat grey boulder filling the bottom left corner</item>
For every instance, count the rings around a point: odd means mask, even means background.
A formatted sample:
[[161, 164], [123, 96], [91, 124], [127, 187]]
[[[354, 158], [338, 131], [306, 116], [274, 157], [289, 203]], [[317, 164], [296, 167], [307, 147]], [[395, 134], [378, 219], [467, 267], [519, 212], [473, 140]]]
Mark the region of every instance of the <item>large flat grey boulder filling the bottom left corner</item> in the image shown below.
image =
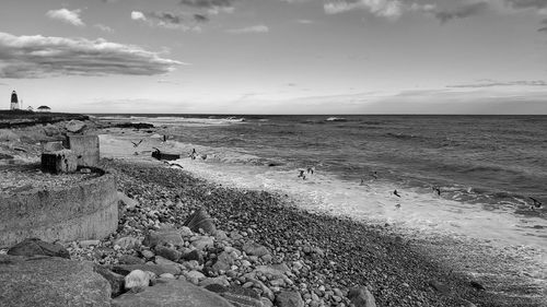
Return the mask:
[[0, 306], [110, 306], [110, 285], [93, 263], [0, 255]]

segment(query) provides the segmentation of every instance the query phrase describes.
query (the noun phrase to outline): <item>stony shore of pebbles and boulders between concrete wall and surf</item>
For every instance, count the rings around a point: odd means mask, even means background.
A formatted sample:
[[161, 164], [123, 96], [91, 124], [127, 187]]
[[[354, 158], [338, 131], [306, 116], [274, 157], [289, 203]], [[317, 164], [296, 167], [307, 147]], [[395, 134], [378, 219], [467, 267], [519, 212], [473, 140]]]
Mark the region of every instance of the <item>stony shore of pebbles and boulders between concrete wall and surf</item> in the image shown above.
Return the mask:
[[[305, 306], [349, 306], [356, 286], [366, 286], [377, 306], [539, 306], [499, 302], [480, 283], [423, 257], [387, 226], [303, 212], [283, 196], [214, 186], [160, 163], [104, 164], [129, 196], [128, 204], [118, 232], [97, 246], [72, 244], [73, 259], [114, 270], [146, 261], [171, 265], [171, 274], [201, 286], [252, 288], [265, 306], [286, 292], [300, 294]], [[184, 227], [200, 208], [221, 229], [217, 236]], [[182, 240], [170, 241], [173, 229]]]

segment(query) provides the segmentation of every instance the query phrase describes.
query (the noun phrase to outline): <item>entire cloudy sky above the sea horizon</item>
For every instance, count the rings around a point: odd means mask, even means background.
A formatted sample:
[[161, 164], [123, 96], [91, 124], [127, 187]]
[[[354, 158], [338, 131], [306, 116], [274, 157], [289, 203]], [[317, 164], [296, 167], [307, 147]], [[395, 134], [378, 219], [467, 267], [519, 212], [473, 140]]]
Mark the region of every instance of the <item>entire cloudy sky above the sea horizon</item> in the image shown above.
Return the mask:
[[14, 90], [71, 113], [547, 114], [547, 0], [1, 0], [0, 109]]

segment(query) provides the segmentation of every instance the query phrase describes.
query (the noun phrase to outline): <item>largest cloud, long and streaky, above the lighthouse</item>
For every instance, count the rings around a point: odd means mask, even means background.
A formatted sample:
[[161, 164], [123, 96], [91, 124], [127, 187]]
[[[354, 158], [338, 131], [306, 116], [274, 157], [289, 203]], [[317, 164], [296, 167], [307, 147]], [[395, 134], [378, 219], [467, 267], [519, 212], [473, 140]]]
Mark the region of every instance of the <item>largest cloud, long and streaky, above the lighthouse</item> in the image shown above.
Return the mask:
[[183, 62], [105, 39], [15, 36], [0, 32], [0, 78], [56, 75], [154, 75]]

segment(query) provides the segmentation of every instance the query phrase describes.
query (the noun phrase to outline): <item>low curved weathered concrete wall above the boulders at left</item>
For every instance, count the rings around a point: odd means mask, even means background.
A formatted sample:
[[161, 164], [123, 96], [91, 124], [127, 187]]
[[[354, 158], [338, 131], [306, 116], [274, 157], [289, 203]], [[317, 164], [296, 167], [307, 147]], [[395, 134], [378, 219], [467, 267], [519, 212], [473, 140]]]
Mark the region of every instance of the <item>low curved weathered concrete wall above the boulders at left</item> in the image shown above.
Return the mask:
[[72, 187], [0, 194], [0, 247], [27, 237], [43, 240], [103, 238], [118, 224], [116, 181], [104, 175]]

